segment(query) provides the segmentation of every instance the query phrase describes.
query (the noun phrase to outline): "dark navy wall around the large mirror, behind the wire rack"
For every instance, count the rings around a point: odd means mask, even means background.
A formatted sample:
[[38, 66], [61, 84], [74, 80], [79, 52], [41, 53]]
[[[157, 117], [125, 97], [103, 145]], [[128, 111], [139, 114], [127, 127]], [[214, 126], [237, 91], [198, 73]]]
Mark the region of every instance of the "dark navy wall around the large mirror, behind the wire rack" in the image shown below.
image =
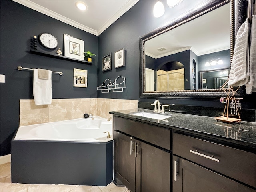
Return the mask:
[[[205, 0], [204, 2], [207, 2]], [[177, 18], [182, 17], [189, 10], [196, 8], [202, 1], [183, 1], [178, 6], [168, 8], [166, 1], [161, 2], [165, 6], [165, 13], [160, 18], [153, 16], [153, 7], [156, 1], [140, 0], [128, 12], [120, 17], [107, 30], [100, 34], [98, 58], [102, 58], [106, 54], [116, 52], [120, 48], [126, 49], [126, 66], [118, 69], [114, 68], [112, 63], [112, 70], [108, 72], [98, 71], [98, 86], [101, 85], [105, 79], [110, 78], [114, 80], [118, 75], [126, 77], [126, 89], [120, 93], [100, 93], [99, 98], [117, 98], [117, 99], [138, 99], [142, 102], [152, 102], [154, 99], [140, 99], [139, 94], [139, 37], [158, 28], [166, 25]], [[113, 57], [114, 60], [114, 57]], [[256, 104], [253, 98], [256, 94], [245, 96], [243, 106], [245, 108], [255, 108]], [[182, 98], [167, 100], [161, 99], [162, 103], [185, 104], [194, 106], [224, 106], [217, 101], [209, 100], [183, 100]]]

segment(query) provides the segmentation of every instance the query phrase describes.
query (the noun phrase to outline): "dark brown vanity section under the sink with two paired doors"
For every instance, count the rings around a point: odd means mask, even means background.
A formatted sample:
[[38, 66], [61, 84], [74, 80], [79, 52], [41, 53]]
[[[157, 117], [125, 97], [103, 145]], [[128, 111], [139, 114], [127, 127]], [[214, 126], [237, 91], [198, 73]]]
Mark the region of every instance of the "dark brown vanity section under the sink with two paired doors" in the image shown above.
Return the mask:
[[162, 137], [170, 149], [170, 130], [115, 116], [113, 130], [114, 182], [131, 192], [170, 192], [171, 154], [156, 145]]

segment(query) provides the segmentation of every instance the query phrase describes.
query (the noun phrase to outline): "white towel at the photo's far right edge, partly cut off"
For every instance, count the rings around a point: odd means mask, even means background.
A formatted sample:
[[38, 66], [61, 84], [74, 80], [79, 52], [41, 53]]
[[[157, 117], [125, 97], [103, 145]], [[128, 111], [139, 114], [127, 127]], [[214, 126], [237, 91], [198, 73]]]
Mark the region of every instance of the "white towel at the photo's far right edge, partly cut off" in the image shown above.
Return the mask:
[[250, 46], [250, 79], [245, 85], [246, 93], [256, 92], [256, 16], [252, 15]]

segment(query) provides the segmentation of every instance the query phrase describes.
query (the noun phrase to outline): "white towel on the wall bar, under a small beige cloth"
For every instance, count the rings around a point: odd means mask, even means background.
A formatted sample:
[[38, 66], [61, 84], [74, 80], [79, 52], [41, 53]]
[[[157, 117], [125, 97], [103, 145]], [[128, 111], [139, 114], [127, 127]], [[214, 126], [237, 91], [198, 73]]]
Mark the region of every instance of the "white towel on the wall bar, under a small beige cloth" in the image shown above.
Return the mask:
[[48, 79], [39, 79], [38, 69], [34, 69], [33, 76], [33, 95], [35, 104], [52, 104], [52, 71], [49, 71]]

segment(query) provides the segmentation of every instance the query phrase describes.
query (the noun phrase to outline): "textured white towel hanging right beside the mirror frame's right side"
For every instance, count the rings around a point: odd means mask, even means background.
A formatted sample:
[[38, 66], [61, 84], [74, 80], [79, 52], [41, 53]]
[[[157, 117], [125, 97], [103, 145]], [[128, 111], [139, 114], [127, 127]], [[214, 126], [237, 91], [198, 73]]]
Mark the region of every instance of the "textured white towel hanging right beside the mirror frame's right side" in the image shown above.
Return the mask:
[[249, 78], [249, 18], [241, 25], [236, 34], [236, 44], [231, 63], [228, 86], [242, 86]]

